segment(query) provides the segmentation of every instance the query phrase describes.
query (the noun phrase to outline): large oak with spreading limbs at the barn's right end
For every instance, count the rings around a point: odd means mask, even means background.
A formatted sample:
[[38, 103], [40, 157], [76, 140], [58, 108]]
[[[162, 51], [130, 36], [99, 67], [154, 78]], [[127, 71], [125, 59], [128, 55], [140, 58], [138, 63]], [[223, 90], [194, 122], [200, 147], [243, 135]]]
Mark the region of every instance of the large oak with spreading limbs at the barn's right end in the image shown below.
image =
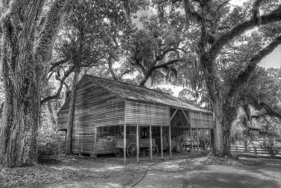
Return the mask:
[[[221, 157], [232, 156], [230, 129], [240, 105], [241, 87], [249, 80], [259, 61], [281, 43], [280, 1], [270, 1], [278, 4], [274, 6], [275, 10], [267, 8], [268, 3], [259, 2], [249, 0], [242, 7], [231, 10], [229, 1], [222, 0], [152, 1], [159, 15], [169, 14], [172, 17], [178, 8], [184, 8], [185, 29], [197, 29], [194, 46], [200, 66], [194, 66], [194, 70], [195, 74], [203, 76], [195, 79], [203, 80], [195, 82], [197, 85], [192, 87], [197, 90], [202, 83], [206, 87], [207, 99], [212, 104], [216, 119], [214, 153]], [[262, 16], [259, 15], [260, 8], [264, 11]], [[166, 13], [167, 10], [169, 13]], [[259, 26], [256, 32], [244, 35], [245, 31], [255, 30], [256, 26]], [[262, 102], [258, 105], [266, 106]]]

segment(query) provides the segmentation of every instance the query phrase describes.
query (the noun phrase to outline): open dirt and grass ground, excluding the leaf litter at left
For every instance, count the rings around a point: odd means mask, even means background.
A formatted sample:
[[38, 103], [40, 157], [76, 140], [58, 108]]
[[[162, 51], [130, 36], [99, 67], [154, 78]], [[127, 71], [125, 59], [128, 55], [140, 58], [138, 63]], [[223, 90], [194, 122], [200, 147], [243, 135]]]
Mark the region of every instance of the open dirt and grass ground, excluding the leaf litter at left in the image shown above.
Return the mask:
[[[201, 155], [204, 157], [205, 155]], [[212, 165], [187, 163], [190, 153], [178, 155], [164, 153], [154, 161], [141, 157], [140, 162], [115, 156], [100, 156], [97, 159], [64, 161], [60, 166], [80, 166], [94, 168], [108, 173], [106, 178], [88, 178], [83, 181], [56, 182], [42, 187], [281, 187], [281, 160], [264, 158], [243, 158], [259, 165]]]

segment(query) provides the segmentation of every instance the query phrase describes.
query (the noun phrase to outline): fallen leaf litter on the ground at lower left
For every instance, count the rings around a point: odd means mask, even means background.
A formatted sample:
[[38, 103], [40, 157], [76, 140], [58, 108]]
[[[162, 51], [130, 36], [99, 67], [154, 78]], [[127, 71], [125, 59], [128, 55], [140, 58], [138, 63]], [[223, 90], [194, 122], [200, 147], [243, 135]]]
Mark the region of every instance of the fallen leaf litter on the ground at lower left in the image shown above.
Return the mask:
[[[77, 158], [77, 157], [69, 157]], [[79, 157], [82, 158], [82, 157]], [[57, 161], [69, 160], [65, 157]], [[34, 187], [62, 181], [84, 180], [86, 178], [107, 178], [108, 173], [96, 171], [94, 168], [81, 168], [79, 166], [58, 166], [47, 160], [40, 166], [26, 166], [0, 169], [1, 187]]]

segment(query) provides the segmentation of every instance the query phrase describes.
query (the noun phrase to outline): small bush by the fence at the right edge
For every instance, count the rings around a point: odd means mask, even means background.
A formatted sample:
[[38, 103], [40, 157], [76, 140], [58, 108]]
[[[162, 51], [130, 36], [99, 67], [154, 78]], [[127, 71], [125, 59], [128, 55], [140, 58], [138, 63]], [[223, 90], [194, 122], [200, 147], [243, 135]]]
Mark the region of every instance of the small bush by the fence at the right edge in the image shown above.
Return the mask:
[[260, 143], [260, 147], [266, 149], [270, 153], [271, 157], [275, 157], [276, 154], [281, 151], [281, 146], [277, 144], [278, 141], [280, 142], [280, 137], [277, 138], [276, 136], [269, 136]]

